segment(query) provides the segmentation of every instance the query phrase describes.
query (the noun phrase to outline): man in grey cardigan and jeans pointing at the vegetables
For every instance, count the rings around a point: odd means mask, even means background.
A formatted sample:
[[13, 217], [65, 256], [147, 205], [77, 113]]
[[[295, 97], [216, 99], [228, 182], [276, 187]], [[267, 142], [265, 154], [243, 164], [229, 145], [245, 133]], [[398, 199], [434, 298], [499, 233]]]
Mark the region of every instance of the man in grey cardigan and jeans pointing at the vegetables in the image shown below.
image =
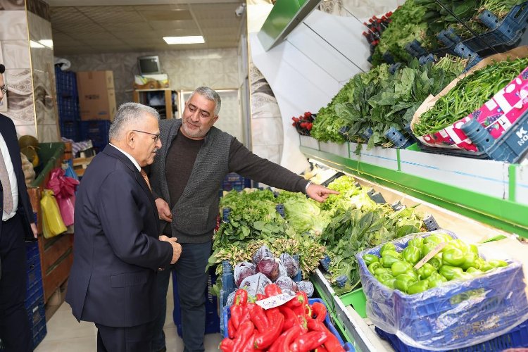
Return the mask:
[[[185, 103], [181, 120], [162, 120], [162, 147], [149, 175], [163, 234], [177, 237], [182, 245], [182, 255], [174, 269], [186, 352], [204, 351], [203, 293], [208, 279], [205, 268], [218, 215], [218, 191], [225, 175], [237, 172], [272, 187], [303, 192], [321, 202], [329, 194], [337, 194], [256, 156], [232, 135], [213, 127], [220, 105], [217, 92], [199, 87]], [[154, 331], [152, 351], [156, 352], [165, 351], [163, 323], [169, 279], [170, 270], [158, 273], [158, 300], [163, 313]]]

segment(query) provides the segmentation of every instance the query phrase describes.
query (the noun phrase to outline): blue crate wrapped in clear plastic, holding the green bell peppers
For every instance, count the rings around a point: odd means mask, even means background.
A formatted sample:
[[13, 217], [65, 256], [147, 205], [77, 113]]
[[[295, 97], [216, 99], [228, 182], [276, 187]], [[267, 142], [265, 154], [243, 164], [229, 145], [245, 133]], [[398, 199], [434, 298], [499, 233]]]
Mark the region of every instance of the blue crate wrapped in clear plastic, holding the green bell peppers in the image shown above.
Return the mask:
[[[436, 232], [456, 238], [453, 232]], [[411, 238], [436, 232], [410, 234], [392, 243], [397, 251], [402, 251]], [[528, 316], [524, 274], [522, 265], [516, 261], [474, 279], [447, 282], [408, 295], [385, 287], [368, 271], [363, 256], [379, 256], [381, 246], [356, 254], [367, 297], [367, 314], [381, 329], [398, 329], [398, 337], [406, 336], [407, 344], [427, 343], [430, 348], [466, 346], [470, 341], [485, 341], [490, 334], [508, 331], [508, 327], [520, 324]]]

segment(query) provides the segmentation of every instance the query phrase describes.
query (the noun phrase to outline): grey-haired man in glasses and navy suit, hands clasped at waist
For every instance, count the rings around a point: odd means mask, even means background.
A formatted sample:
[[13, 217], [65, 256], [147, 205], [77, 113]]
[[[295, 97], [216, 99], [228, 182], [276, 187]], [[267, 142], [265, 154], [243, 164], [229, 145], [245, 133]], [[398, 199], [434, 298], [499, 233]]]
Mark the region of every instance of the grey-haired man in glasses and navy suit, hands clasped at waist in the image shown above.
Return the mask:
[[75, 201], [73, 266], [66, 301], [77, 320], [94, 322], [97, 351], [149, 352], [158, 270], [181, 246], [160, 235], [159, 216], [141, 168], [161, 147], [156, 110], [124, 103], [110, 144], [90, 163]]

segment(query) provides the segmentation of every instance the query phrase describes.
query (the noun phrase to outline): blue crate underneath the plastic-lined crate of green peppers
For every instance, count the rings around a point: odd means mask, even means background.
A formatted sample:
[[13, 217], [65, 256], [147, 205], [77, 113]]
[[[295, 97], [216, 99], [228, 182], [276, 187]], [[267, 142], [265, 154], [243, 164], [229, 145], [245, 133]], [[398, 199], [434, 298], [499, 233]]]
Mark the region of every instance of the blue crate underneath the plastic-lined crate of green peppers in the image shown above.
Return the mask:
[[[375, 328], [375, 331], [382, 339], [389, 341], [389, 344], [400, 352], [427, 352], [420, 348], [415, 348], [403, 344], [394, 334], [388, 334], [382, 329]], [[450, 350], [448, 352], [482, 352], [482, 351], [503, 351], [508, 348], [520, 348], [528, 347], [528, 320], [522, 322], [517, 327], [514, 327], [506, 334], [503, 334], [495, 339], [484, 341], [481, 344], [466, 348], [458, 348], [456, 350]]]

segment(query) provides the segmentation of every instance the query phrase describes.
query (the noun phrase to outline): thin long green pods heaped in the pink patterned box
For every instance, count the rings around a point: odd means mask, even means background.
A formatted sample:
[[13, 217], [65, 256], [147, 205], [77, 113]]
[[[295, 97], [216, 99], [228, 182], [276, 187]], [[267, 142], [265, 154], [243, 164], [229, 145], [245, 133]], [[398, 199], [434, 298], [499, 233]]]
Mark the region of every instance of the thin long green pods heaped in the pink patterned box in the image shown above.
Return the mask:
[[414, 134], [424, 136], [438, 132], [470, 115], [527, 66], [528, 58], [501, 61], [463, 78], [448, 94], [441, 96], [432, 108], [420, 115], [420, 120], [413, 126]]

